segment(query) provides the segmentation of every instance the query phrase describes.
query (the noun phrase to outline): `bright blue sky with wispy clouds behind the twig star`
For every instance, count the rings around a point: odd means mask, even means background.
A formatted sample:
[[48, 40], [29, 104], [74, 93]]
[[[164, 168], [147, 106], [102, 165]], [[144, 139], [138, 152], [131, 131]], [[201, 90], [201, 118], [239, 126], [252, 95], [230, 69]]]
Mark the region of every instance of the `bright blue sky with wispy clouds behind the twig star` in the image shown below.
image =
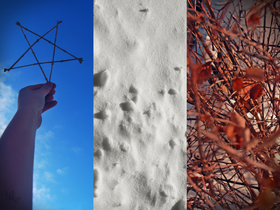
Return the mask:
[[[63, 21], [56, 45], [84, 60], [53, 66], [58, 104], [42, 114], [36, 133], [33, 209], [93, 209], [93, 1], [2, 1], [0, 19], [0, 135], [16, 112], [18, 91], [46, 82], [38, 65], [3, 72], [29, 48], [16, 21], [39, 35]], [[30, 44], [37, 40], [24, 32]], [[53, 43], [54, 37], [55, 29], [45, 36]], [[48, 42], [41, 39], [32, 49], [39, 62], [52, 61]], [[64, 59], [72, 57], [56, 48], [54, 60]], [[16, 66], [32, 63], [30, 50]], [[41, 66], [49, 78], [51, 65]]]

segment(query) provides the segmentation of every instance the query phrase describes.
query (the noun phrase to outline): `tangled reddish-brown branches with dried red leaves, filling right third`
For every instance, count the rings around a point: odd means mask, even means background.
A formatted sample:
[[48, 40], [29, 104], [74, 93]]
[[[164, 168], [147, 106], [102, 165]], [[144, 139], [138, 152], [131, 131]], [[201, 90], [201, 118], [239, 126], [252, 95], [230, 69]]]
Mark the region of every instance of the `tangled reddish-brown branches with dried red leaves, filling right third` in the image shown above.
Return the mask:
[[187, 2], [187, 209], [276, 209], [280, 1]]

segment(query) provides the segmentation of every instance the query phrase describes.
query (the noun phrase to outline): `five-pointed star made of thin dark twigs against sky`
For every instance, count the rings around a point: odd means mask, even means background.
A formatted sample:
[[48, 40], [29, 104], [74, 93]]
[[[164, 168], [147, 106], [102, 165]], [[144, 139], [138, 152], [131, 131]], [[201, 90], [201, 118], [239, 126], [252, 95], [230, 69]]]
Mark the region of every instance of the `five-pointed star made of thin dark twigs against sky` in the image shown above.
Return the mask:
[[[49, 30], [49, 31], [48, 31], [47, 33], [45, 33], [43, 36], [40, 36], [40, 35], [34, 33], [33, 31], [31, 31], [31, 30], [29, 30], [29, 29], [27, 29], [27, 28], [21, 26], [21, 24], [20, 24], [19, 22], [16, 22], [16, 25], [18, 25], [18, 26], [21, 27], [21, 31], [22, 31], [22, 33], [23, 33], [23, 35], [24, 35], [24, 37], [25, 37], [25, 39], [26, 39], [26, 41], [27, 41], [27, 43], [28, 43], [28, 45], [29, 45], [29, 48], [25, 51], [24, 54], [21, 55], [21, 57], [20, 57], [19, 59], [17, 59], [17, 61], [16, 61], [10, 68], [4, 68], [4, 72], [10, 71], [11, 69], [14, 69], [14, 68], [21, 68], [21, 67], [32, 66], [32, 65], [39, 65], [41, 71], [42, 71], [43, 74], [44, 74], [45, 80], [48, 82], [48, 78], [46, 77], [46, 75], [45, 75], [45, 73], [44, 73], [44, 71], [43, 71], [43, 68], [41, 67], [41, 64], [44, 64], [44, 63], [52, 63], [52, 68], [51, 68], [51, 72], [50, 72], [50, 75], [49, 75], [49, 81], [50, 81], [51, 76], [52, 76], [52, 70], [53, 70], [53, 65], [54, 65], [54, 63], [57, 63], [57, 62], [65, 62], [65, 61], [72, 61], [72, 60], [78, 60], [80, 63], [82, 63], [83, 58], [77, 58], [77, 57], [75, 57], [74, 55], [68, 53], [66, 50], [64, 50], [64, 49], [62, 49], [62, 48], [60, 48], [60, 47], [58, 47], [58, 46], [56, 45], [57, 29], [58, 29], [58, 25], [59, 25], [60, 23], [62, 23], [62, 21], [57, 21], [56, 26], [54, 26], [51, 30]], [[54, 28], [56, 28], [56, 32], [55, 32], [54, 43], [52, 43], [51, 41], [45, 39], [44, 36], [47, 35], [50, 31], [52, 31]], [[35, 34], [36, 36], [39, 36], [40, 38], [37, 39], [32, 45], [30, 45], [30, 43], [29, 43], [29, 41], [28, 41], [28, 39], [27, 39], [27, 37], [26, 37], [26, 35], [25, 35], [23, 29], [25, 29], [25, 30], [31, 32], [32, 34]], [[55, 47], [57, 47], [58, 49], [61, 49], [63, 52], [65, 52], [65, 53], [71, 55], [71, 56], [73, 57], [73, 59], [54, 61], [54, 53], [53, 53], [53, 59], [52, 59], [52, 61], [50, 61], [50, 62], [39, 63], [39, 61], [38, 61], [38, 59], [37, 59], [37, 57], [36, 57], [36, 55], [35, 55], [35, 52], [33, 51], [32, 47], [33, 47], [37, 42], [39, 42], [40, 39], [46, 40], [47, 42], [49, 42], [49, 44], [54, 45], [54, 52], [55, 52]], [[25, 66], [14, 67], [14, 66], [16, 65], [16, 63], [17, 63], [30, 49], [31, 49], [32, 54], [34, 55], [34, 57], [35, 57], [37, 63], [33, 63], [33, 64], [25, 65]]]

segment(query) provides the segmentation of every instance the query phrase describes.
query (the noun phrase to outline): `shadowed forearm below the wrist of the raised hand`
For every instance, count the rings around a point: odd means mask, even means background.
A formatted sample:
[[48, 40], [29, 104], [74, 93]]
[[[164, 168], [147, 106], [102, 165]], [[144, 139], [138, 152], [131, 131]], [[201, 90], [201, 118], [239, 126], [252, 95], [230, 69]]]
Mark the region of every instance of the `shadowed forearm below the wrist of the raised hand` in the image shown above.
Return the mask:
[[3, 209], [32, 209], [38, 117], [31, 109], [18, 110], [0, 138], [0, 207]]

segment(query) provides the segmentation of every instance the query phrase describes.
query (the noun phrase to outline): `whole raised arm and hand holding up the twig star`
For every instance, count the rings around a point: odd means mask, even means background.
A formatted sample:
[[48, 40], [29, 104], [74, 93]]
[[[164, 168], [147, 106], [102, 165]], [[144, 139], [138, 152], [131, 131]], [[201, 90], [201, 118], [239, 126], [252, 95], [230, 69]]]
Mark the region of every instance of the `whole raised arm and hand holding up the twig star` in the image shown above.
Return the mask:
[[41, 114], [57, 104], [55, 87], [47, 82], [19, 91], [16, 114], [0, 138], [0, 209], [32, 210], [35, 134]]

